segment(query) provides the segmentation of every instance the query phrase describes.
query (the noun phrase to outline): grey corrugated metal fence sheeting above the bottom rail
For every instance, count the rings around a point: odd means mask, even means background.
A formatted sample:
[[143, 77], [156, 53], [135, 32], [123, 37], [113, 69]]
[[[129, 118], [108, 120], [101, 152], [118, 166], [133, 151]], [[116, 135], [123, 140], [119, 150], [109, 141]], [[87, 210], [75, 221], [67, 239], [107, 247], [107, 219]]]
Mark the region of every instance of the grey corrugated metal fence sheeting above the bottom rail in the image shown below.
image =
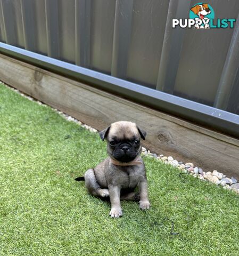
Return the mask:
[[234, 29], [172, 29], [188, 0], [1, 0], [0, 41], [239, 114], [239, 2], [208, 3]]

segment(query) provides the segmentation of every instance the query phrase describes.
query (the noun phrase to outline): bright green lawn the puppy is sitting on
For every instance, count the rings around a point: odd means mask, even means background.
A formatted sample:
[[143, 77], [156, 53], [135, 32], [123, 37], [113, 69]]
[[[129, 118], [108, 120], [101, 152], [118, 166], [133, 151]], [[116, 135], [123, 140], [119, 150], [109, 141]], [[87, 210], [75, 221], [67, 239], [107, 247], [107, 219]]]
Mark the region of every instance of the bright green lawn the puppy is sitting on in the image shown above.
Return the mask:
[[74, 181], [105, 143], [50, 107], [0, 84], [0, 255], [238, 255], [239, 196], [144, 161], [149, 211], [109, 202]]

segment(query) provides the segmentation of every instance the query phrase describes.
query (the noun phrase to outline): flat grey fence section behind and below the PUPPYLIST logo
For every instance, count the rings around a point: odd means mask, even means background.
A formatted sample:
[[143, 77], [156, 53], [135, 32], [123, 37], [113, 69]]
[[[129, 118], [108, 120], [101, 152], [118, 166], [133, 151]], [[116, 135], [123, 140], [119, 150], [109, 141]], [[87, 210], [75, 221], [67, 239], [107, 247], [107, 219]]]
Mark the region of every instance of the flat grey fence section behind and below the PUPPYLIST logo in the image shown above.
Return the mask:
[[[211, 1], [216, 18], [237, 18], [237, 0]], [[195, 4], [196, 1], [192, 1]], [[180, 57], [175, 95], [213, 106], [233, 29], [187, 29]]]

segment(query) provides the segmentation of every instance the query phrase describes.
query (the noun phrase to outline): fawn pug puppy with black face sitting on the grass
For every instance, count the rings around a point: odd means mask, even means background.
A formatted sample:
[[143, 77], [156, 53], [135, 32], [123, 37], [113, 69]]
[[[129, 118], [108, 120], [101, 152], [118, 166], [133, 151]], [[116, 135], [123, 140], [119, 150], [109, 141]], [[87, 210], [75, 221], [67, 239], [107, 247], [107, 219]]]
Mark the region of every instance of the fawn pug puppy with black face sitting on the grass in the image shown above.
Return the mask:
[[[84, 177], [88, 192], [94, 196], [110, 197], [112, 218], [122, 216], [120, 200], [139, 199], [139, 208], [150, 209], [145, 165], [140, 157], [141, 139], [146, 132], [132, 122], [120, 121], [100, 132], [107, 141], [109, 157], [95, 168], [86, 171]], [[138, 187], [138, 195], [134, 189]]]

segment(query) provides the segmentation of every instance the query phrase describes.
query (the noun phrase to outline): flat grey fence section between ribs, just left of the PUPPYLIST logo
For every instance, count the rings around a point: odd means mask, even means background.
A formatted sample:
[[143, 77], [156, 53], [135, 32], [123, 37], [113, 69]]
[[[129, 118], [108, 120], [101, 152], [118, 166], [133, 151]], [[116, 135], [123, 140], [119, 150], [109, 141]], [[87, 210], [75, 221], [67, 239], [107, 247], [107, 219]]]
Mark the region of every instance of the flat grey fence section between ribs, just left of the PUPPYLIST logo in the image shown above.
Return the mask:
[[[169, 1], [134, 1], [127, 78], [156, 86]], [[159, 15], [160, 10], [160, 15]]]

